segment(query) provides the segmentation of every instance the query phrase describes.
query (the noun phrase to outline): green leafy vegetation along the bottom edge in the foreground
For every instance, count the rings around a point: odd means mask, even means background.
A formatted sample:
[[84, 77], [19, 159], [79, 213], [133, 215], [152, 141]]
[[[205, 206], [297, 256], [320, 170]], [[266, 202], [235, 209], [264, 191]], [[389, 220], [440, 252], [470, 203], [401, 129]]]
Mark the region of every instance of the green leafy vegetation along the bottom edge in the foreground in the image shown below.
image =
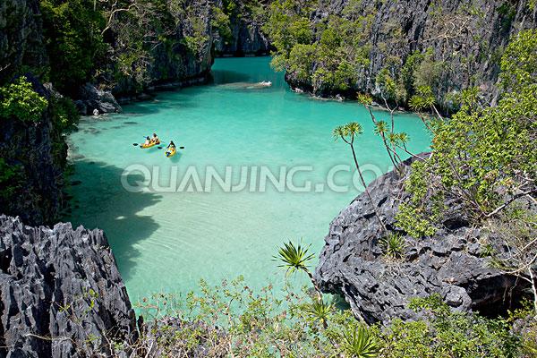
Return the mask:
[[[301, 252], [302, 259], [310, 256], [293, 243], [280, 250], [290, 251]], [[303, 270], [304, 260], [287, 261], [293, 262], [290, 267]], [[184, 301], [172, 294], [155, 294], [139, 303], [148, 327], [132, 345], [105, 340], [92, 341], [91, 346], [98, 350], [107, 345], [116, 354], [123, 351], [132, 356], [145, 356], [155, 345], [163, 356], [203, 352], [204, 356], [234, 357], [529, 358], [535, 352], [537, 325], [528, 321], [527, 308], [507, 318], [490, 319], [451, 311], [433, 294], [408, 305], [422, 313], [420, 320], [368, 326], [335, 304], [309, 303], [306, 287], [295, 292], [286, 285], [283, 297], [277, 299], [272, 286], [254, 293], [243, 277], [221, 286], [202, 280], [200, 294], [192, 292]], [[94, 298], [83, 298], [90, 300], [89, 310], [96, 309]], [[84, 317], [76, 316], [76, 320], [83, 323]], [[513, 329], [516, 321], [522, 326]]]

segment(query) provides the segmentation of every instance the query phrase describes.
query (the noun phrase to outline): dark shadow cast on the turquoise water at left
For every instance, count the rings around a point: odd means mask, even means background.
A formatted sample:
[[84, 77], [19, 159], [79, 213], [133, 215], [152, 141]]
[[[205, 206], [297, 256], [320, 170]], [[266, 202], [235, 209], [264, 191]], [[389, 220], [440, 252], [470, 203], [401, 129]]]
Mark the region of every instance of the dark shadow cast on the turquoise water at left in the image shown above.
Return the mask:
[[[124, 189], [124, 169], [102, 162], [79, 160], [75, 163], [72, 180], [78, 180], [69, 194], [78, 201], [78, 209], [64, 220], [73, 226], [102, 229], [112, 247], [118, 268], [124, 280], [134, 273], [141, 252], [136, 243], [147, 239], [159, 227], [157, 222], [141, 211], [157, 204], [162, 196], [153, 192], [129, 192]], [[129, 175], [127, 183], [142, 181], [141, 175]], [[74, 205], [73, 205], [74, 206]]]

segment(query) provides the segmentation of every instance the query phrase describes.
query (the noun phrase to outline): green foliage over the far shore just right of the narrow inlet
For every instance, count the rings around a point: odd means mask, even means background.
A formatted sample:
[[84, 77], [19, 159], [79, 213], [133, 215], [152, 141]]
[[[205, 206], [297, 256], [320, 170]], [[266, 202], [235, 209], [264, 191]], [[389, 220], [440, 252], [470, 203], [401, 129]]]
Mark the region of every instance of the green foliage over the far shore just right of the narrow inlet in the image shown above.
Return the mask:
[[[355, 5], [351, 3], [347, 8]], [[367, 38], [374, 9], [354, 20], [330, 16], [327, 23], [315, 24], [310, 21], [312, 6], [312, 1], [290, 0], [270, 5], [264, 30], [277, 48], [272, 64], [311, 83], [315, 92], [349, 90], [369, 64]]]

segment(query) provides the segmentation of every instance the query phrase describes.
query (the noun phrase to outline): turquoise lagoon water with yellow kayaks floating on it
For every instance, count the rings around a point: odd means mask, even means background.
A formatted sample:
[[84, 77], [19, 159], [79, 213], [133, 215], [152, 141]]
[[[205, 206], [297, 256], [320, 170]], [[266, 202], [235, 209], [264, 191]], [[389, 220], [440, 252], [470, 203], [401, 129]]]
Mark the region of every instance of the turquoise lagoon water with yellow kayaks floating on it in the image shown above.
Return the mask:
[[[368, 181], [374, 171], [388, 170], [387, 154], [358, 104], [292, 92], [283, 74], [270, 69], [269, 58], [217, 59], [213, 76], [209, 85], [158, 93], [154, 101], [125, 106], [121, 115], [84, 118], [71, 135], [72, 180], [81, 183], [72, 186], [75, 208], [65, 220], [105, 230], [133, 302], [158, 292], [185, 294], [200, 278], [216, 285], [243, 275], [251, 287], [282, 286], [284, 273], [272, 260], [277, 246], [303, 238], [320, 252], [330, 221], [359, 193], [354, 186], [326, 188], [330, 169], [338, 165], [334, 182], [352, 183], [345, 170], [352, 165], [351, 153], [331, 136], [337, 125], [362, 124], [356, 148], [361, 164], [371, 169]], [[259, 81], [273, 85], [252, 86]], [[388, 119], [386, 112], [377, 115]], [[397, 115], [396, 129], [410, 135], [410, 149], [428, 148], [430, 139], [416, 116]], [[164, 149], [132, 145], [152, 132], [184, 149], [166, 158]], [[227, 167], [233, 185], [245, 177], [246, 187], [229, 192], [213, 181], [209, 190], [208, 167], [223, 177]], [[282, 190], [268, 181], [262, 191], [261, 167], [276, 176], [282, 167], [286, 173], [299, 170], [292, 185]], [[133, 168], [141, 170], [124, 174]], [[134, 185], [143, 172], [151, 173], [146, 189], [125, 190], [122, 175]], [[291, 190], [306, 181], [310, 191]], [[251, 183], [256, 183], [252, 189]], [[321, 190], [316, 184], [323, 183]]]

